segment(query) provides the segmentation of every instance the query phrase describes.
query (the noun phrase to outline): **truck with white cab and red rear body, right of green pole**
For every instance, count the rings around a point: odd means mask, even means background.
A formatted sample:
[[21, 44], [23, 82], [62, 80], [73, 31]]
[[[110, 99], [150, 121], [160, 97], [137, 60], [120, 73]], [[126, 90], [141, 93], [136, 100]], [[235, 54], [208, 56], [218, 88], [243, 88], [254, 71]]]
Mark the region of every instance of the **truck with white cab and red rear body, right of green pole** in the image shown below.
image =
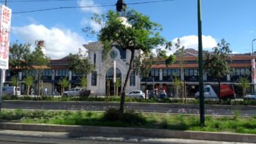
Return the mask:
[[[206, 85], [204, 86], [205, 99], [219, 99], [219, 85]], [[195, 93], [195, 99], [199, 99], [199, 92]], [[221, 99], [235, 99], [236, 94], [233, 86], [227, 84], [220, 85], [220, 98]]]

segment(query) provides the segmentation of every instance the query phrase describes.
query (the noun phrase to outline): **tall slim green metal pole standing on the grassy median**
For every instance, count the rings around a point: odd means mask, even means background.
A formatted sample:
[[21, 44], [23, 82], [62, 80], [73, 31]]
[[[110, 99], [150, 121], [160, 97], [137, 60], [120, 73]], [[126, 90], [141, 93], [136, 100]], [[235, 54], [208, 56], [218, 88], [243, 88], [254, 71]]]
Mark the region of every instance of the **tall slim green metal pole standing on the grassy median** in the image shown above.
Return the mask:
[[205, 108], [203, 94], [203, 42], [202, 42], [202, 20], [201, 1], [197, 0], [197, 23], [198, 23], [198, 65], [199, 65], [199, 94], [200, 94], [200, 126], [205, 126]]

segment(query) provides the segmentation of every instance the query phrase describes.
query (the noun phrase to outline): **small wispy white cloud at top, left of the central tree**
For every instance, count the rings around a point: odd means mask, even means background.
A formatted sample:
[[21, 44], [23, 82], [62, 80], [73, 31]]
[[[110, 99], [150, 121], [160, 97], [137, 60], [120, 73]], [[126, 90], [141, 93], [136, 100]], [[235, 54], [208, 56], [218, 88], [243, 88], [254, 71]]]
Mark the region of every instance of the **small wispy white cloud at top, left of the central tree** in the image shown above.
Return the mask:
[[[102, 12], [102, 10], [99, 7], [94, 7], [94, 6], [96, 6], [96, 4], [94, 4], [93, 0], [78, 0], [78, 6], [85, 7], [85, 8], [80, 9], [83, 12], [92, 12], [92, 13], [97, 13], [97, 14]], [[88, 8], [86, 8], [86, 7], [88, 7]]]

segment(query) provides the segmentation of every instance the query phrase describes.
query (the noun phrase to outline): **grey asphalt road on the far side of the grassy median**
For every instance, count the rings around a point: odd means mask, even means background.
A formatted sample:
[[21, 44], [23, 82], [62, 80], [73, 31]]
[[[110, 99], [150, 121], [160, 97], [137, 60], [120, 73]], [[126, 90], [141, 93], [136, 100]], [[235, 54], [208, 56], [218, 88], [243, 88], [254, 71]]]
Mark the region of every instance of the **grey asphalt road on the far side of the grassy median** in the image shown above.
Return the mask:
[[[42, 102], [42, 101], [3, 101], [4, 109], [31, 109], [31, 110], [91, 110], [105, 111], [110, 107], [119, 107], [118, 102]], [[125, 109], [134, 109], [146, 113], [183, 113], [199, 114], [199, 105], [179, 104], [147, 104], [126, 103]], [[206, 115], [234, 115], [238, 112], [242, 116], [256, 115], [255, 106], [227, 106], [205, 105]]]

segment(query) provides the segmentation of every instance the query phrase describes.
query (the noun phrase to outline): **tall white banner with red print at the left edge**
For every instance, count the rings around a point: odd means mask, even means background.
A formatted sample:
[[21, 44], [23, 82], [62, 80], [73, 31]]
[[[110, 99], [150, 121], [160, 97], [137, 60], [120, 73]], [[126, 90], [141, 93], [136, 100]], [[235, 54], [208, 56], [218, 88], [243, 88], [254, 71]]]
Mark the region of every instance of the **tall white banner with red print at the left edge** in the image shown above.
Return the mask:
[[12, 10], [0, 7], [0, 69], [9, 69], [10, 29]]

